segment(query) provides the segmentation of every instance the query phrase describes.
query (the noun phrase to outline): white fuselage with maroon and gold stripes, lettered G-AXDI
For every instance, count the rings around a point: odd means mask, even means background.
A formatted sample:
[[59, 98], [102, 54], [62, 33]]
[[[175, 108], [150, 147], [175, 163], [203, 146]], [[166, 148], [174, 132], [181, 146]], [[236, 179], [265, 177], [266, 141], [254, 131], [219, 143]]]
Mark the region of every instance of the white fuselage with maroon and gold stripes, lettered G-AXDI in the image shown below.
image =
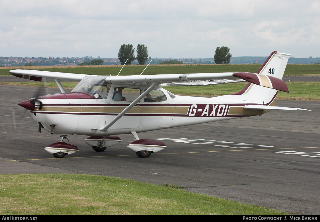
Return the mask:
[[[241, 95], [213, 98], [165, 95], [161, 102], [141, 100], [113, 124], [107, 132], [99, 129], [112, 121], [130, 103], [111, 98], [94, 98], [86, 93], [59, 93], [39, 97], [31, 111], [34, 120], [54, 134], [108, 136], [215, 122], [220, 120], [261, 115], [265, 111], [245, 110], [248, 104], [239, 103]], [[41, 106], [40, 106], [41, 103]]]

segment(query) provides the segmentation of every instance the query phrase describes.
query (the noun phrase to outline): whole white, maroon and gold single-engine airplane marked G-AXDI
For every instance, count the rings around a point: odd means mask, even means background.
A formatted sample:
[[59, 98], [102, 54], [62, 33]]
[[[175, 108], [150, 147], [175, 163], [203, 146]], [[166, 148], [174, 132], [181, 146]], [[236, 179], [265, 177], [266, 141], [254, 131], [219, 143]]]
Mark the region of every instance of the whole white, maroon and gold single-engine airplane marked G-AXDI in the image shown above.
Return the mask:
[[[84, 74], [10, 70], [16, 77], [41, 81], [52, 78], [61, 93], [32, 98], [18, 105], [29, 109], [33, 119], [60, 142], [45, 148], [56, 158], [79, 151], [67, 144], [68, 135], [89, 136], [84, 140], [96, 152], [121, 142], [114, 135], [132, 134], [128, 147], [138, 157], [149, 157], [166, 146], [163, 142], [139, 139], [137, 133], [198, 123], [261, 115], [270, 110], [307, 110], [276, 107], [278, 90], [289, 92], [282, 80], [289, 54], [273, 52], [257, 73], [224, 72], [137, 76], [93, 76]], [[141, 73], [142, 74], [142, 73]], [[161, 85], [212, 85], [214, 81], [248, 81], [238, 93], [212, 98], [176, 96]], [[80, 81], [66, 93], [60, 81]]]

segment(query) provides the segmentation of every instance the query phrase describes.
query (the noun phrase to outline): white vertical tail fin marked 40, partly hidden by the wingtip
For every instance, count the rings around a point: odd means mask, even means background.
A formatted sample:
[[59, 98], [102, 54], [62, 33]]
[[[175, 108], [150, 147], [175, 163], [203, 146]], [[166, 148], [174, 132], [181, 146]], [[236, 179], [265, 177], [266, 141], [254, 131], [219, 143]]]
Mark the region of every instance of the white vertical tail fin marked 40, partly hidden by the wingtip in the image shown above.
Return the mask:
[[[273, 52], [258, 70], [257, 74], [262, 74], [282, 79], [285, 67], [287, 66], [289, 54]], [[243, 95], [244, 101], [270, 105], [276, 98], [278, 90], [266, 88], [264, 86], [249, 83], [237, 94]]]

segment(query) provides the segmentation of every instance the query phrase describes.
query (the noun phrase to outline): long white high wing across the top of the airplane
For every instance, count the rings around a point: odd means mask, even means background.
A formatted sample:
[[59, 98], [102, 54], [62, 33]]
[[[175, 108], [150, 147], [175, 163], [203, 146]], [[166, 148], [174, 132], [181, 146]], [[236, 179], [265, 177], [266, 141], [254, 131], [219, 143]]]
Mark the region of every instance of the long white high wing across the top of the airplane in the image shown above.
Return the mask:
[[[189, 74], [159, 74], [159, 75], [136, 75], [136, 76], [94, 76], [85, 74], [74, 74], [74, 73], [64, 73], [64, 72], [51, 72], [51, 71], [40, 71], [40, 70], [10, 70], [13, 76], [34, 80], [42, 81], [42, 78], [52, 78], [54, 79], [61, 92], [64, 93], [63, 87], [60, 81], [81, 81], [84, 77], [92, 77], [101, 79], [105, 78], [106, 82], [117, 83], [123, 85], [152, 85], [157, 83], [157, 85], [214, 85], [222, 83], [233, 83], [233, 82], [252, 82], [252, 78], [244, 78], [243, 75], [257, 75], [255, 73], [240, 73], [242, 75], [237, 75], [239, 73], [234, 72], [218, 72], [218, 73], [189, 73]], [[277, 79], [277, 81], [282, 81]], [[252, 82], [257, 85], [263, 85], [262, 83]], [[284, 82], [283, 82], [284, 83]], [[282, 84], [282, 85], [285, 85]], [[268, 87], [268, 86], [266, 86]], [[269, 87], [272, 88], [272, 87]], [[273, 89], [283, 90], [283, 88]], [[286, 92], [286, 91], [285, 91]]]

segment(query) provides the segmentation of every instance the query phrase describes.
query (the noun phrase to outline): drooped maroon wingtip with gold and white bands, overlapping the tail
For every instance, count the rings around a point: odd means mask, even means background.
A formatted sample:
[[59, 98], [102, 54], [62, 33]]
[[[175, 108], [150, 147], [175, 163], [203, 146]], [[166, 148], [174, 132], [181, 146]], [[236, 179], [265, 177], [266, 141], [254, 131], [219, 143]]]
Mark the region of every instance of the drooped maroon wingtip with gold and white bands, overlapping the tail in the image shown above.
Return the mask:
[[287, 84], [285, 84], [285, 82], [282, 79], [279, 79], [273, 76], [251, 73], [251, 72], [236, 72], [233, 74], [233, 76], [242, 78], [245, 81], [248, 81], [256, 85], [261, 85], [264, 87], [268, 87], [270, 89], [276, 89], [276, 90], [289, 93]]

